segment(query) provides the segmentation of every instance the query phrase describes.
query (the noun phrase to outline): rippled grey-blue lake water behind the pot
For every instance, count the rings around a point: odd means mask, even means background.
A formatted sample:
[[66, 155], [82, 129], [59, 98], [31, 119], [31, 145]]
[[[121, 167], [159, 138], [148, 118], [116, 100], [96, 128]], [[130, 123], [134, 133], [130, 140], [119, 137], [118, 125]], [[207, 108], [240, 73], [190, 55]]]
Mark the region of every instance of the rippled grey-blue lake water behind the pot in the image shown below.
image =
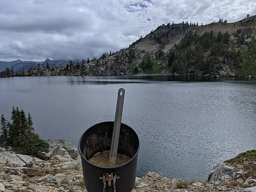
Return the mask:
[[[113, 121], [125, 89], [122, 122], [139, 134], [138, 175], [207, 179], [216, 163], [256, 148], [256, 82], [178, 82], [169, 76], [0, 79], [0, 115], [31, 113], [44, 139], [77, 144], [93, 124]], [[177, 80], [177, 79], [175, 79]], [[178, 79], [191, 80], [191, 79]], [[192, 79], [195, 80], [195, 79]]]

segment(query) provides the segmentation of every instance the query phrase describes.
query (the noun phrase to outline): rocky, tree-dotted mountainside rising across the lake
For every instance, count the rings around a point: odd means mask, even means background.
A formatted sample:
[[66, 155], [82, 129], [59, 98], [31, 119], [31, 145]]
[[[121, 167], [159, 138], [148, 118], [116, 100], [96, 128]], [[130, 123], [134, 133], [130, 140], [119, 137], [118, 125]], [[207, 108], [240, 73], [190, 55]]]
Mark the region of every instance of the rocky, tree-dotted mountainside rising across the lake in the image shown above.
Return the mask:
[[[47, 59], [44, 66], [46, 62], [52, 66], [50, 69], [30, 70], [26, 75], [107, 76], [163, 73], [256, 77], [256, 16], [233, 23], [220, 19], [219, 22], [205, 26], [187, 22], [167, 23], [126, 49], [103, 53], [99, 59], [90, 62], [53, 66], [62, 61]], [[38, 62], [23, 63], [21, 66], [28, 69], [28, 66], [36, 67], [37, 64]], [[14, 67], [20, 69], [19, 65], [16, 63]]]

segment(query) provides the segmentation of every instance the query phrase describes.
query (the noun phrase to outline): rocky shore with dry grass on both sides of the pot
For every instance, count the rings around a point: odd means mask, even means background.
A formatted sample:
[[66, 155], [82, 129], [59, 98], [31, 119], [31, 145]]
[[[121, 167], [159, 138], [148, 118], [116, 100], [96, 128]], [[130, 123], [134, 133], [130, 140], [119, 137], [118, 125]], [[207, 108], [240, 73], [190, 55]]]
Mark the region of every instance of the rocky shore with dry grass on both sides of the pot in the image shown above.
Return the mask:
[[[86, 191], [77, 148], [68, 140], [47, 142], [49, 153], [38, 152], [37, 157], [0, 148], [0, 191]], [[136, 178], [132, 191], [256, 191], [254, 186], [256, 158], [242, 155], [216, 165], [207, 182], [167, 179], [149, 172]]]

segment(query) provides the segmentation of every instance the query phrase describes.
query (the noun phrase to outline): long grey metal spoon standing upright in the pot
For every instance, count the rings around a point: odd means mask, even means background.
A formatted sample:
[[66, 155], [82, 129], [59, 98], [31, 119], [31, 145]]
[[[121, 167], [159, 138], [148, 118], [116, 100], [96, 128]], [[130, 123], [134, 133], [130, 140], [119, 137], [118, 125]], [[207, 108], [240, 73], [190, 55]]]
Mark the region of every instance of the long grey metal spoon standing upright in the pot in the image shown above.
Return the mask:
[[123, 88], [118, 90], [115, 123], [114, 123], [114, 130], [112, 135], [110, 156], [109, 156], [109, 162], [108, 162], [109, 167], [114, 167], [116, 165], [116, 156], [117, 156], [118, 141], [119, 141], [123, 105], [124, 105], [124, 92], [125, 90]]

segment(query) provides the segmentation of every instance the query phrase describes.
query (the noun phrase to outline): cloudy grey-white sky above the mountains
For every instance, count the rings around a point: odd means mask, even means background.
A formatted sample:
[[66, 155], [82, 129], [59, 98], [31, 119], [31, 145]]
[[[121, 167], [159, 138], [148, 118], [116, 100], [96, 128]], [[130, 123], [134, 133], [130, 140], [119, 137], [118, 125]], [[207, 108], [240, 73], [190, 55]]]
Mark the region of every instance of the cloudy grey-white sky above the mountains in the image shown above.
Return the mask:
[[0, 60], [84, 59], [129, 46], [162, 23], [228, 22], [255, 0], [0, 0]]

